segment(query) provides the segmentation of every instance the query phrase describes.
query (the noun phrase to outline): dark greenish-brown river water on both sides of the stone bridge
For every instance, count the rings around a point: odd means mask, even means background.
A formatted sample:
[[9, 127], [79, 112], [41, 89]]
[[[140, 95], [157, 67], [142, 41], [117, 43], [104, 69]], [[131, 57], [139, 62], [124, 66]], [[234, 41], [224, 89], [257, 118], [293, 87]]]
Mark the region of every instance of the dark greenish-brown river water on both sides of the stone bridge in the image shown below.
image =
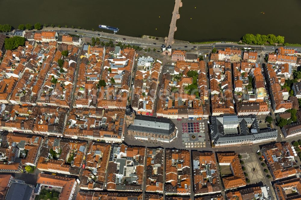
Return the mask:
[[[182, 0], [175, 39], [239, 41], [245, 33], [275, 34], [301, 43], [300, 0]], [[174, 0], [1, 0], [0, 24], [21, 23], [119, 28], [118, 34], [168, 35]], [[262, 13], [264, 12], [264, 14]]]

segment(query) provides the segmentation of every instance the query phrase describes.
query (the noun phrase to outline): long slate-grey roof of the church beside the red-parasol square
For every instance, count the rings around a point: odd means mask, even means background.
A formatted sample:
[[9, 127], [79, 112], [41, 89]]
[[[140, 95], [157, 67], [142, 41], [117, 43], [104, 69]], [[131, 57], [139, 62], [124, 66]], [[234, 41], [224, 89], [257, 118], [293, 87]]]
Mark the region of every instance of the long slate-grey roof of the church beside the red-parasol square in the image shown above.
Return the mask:
[[128, 130], [169, 135], [174, 132], [175, 124], [170, 119], [136, 116]]

